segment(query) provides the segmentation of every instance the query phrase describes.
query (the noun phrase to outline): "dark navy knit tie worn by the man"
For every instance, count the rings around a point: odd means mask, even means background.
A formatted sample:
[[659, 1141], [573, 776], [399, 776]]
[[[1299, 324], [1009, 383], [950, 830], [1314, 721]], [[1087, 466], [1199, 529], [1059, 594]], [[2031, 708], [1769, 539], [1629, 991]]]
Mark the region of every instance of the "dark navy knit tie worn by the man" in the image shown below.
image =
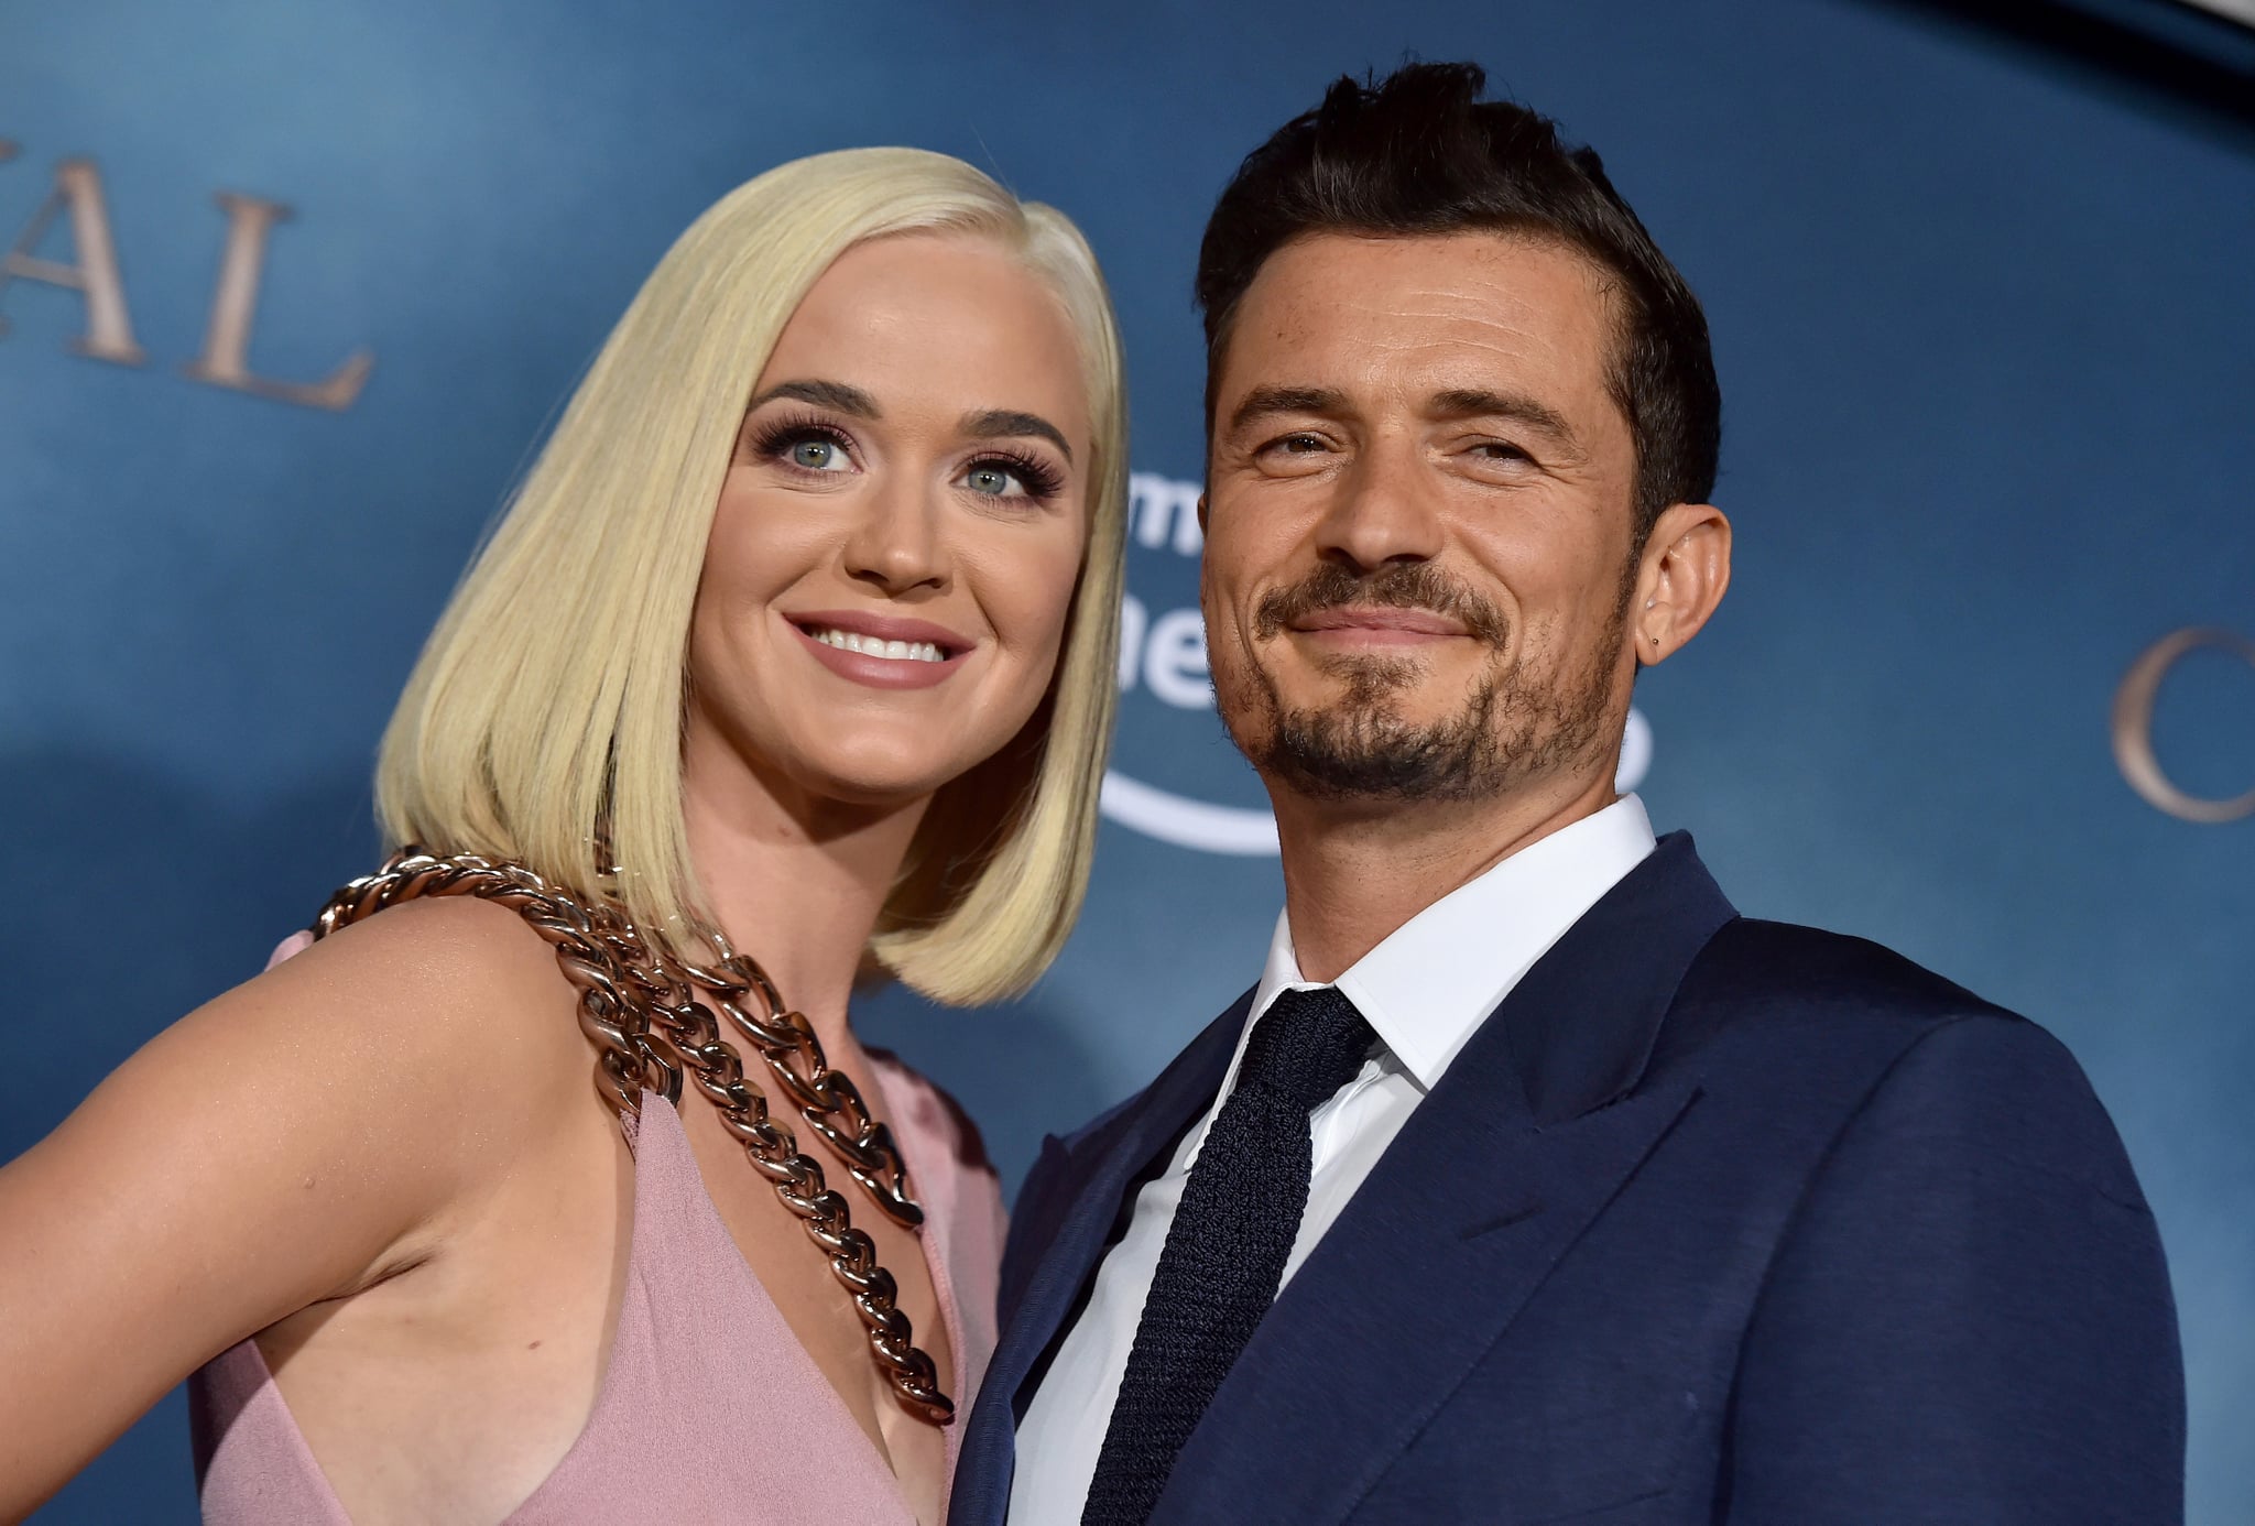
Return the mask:
[[1143, 1526], [1175, 1456], [1276, 1301], [1308, 1208], [1308, 1114], [1378, 1039], [1333, 987], [1283, 992], [1254, 1023], [1206, 1132], [1128, 1352], [1082, 1526]]

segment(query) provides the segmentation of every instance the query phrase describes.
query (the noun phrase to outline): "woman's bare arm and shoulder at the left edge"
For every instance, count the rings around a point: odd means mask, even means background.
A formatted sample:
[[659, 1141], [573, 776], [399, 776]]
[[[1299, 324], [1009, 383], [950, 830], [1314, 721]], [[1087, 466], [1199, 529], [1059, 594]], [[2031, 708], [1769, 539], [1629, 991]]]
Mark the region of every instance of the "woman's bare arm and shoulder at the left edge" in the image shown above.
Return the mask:
[[151, 1039], [0, 1168], [0, 1519], [235, 1341], [442, 1249], [586, 1075], [546, 944], [469, 902], [386, 911]]

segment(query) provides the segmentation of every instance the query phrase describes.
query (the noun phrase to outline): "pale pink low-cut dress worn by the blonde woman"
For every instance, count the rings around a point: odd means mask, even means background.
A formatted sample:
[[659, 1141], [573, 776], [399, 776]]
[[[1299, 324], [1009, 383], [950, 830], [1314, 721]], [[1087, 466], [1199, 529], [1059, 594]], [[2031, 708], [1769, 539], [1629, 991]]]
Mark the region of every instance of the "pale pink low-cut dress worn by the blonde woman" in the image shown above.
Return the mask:
[[[970, 1398], [994, 1355], [1001, 1188], [938, 1089], [886, 1055], [870, 1059], [875, 1100], [925, 1206], [925, 1262], [956, 1364], [954, 1476]], [[255, 1341], [189, 1379], [189, 1411], [210, 1526], [350, 1526]], [[649, 1093], [634, 1138], [634, 1240], [609, 1370], [586, 1429], [507, 1517], [507, 1526], [584, 1521], [916, 1521], [737, 1253], [681, 1116]]]

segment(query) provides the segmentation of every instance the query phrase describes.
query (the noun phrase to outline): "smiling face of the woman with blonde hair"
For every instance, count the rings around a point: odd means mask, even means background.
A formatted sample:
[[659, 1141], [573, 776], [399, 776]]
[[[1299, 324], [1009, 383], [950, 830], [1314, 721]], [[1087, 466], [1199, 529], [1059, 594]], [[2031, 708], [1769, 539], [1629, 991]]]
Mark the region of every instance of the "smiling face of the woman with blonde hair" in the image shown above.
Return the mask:
[[733, 755], [767, 789], [904, 805], [997, 753], [1058, 665], [1089, 453], [1073, 329], [1037, 275], [972, 234], [846, 250], [782, 329], [719, 491], [688, 769]]

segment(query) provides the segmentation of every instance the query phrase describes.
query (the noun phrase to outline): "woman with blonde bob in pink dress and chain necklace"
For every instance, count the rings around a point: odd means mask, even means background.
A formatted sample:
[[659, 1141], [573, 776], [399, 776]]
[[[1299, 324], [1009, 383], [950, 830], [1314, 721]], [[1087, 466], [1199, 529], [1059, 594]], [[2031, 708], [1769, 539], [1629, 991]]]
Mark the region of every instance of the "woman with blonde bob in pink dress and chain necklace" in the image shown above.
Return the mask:
[[706, 212], [408, 678], [399, 852], [0, 1170], [0, 1519], [194, 1373], [210, 1521], [940, 1521], [1001, 1201], [848, 996], [1064, 942], [1123, 516], [1064, 216]]

